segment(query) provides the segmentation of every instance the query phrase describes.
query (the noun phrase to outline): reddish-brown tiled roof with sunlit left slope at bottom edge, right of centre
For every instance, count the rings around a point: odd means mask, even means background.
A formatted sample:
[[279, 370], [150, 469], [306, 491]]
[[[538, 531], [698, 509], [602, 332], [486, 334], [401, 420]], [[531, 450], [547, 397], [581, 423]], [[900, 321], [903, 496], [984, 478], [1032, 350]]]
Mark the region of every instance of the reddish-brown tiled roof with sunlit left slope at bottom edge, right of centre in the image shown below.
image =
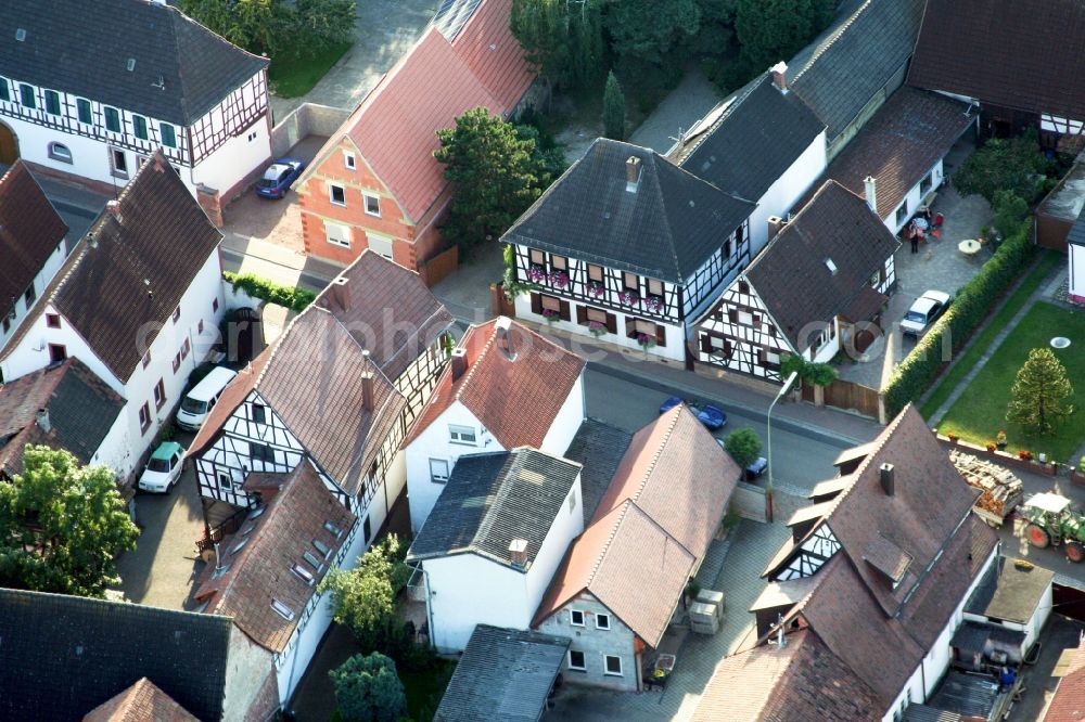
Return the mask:
[[875, 719], [873, 692], [808, 630], [791, 632], [782, 648], [765, 644], [716, 669], [693, 722], [852, 722]]

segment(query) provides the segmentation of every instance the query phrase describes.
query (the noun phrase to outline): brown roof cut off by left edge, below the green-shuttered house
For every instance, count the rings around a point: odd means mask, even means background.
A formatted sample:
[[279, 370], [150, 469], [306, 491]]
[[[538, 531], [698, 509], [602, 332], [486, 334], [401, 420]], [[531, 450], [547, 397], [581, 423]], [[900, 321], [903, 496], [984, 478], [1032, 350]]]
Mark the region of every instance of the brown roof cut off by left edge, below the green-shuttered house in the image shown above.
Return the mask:
[[67, 231], [38, 181], [16, 160], [0, 177], [0, 319], [15, 308]]

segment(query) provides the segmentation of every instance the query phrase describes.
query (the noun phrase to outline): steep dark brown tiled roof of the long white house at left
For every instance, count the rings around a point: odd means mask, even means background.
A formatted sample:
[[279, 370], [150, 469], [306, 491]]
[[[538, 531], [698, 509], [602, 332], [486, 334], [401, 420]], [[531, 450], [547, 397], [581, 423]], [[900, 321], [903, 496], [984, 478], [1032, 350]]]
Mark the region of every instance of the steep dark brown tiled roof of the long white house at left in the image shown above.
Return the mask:
[[[51, 302], [110, 371], [128, 383], [143, 357], [137, 341], [150, 346], [156, 330], [167, 326], [222, 234], [161, 150], [125, 186], [117, 211], [103, 214], [91, 228], [42, 301]], [[34, 312], [40, 314], [44, 306], [39, 301]], [[29, 325], [27, 319], [22, 327]], [[13, 339], [8, 353], [16, 345]]]

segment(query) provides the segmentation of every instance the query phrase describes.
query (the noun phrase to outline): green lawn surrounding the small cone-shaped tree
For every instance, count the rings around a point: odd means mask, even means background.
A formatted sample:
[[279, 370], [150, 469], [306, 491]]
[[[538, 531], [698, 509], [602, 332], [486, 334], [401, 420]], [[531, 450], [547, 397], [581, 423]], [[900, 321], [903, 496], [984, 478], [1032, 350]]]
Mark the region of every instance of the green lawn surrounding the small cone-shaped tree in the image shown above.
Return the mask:
[[[1067, 368], [1074, 387], [1071, 400], [1074, 413], [1054, 436], [1029, 437], [1020, 426], [1006, 421], [1006, 404], [1029, 351], [1050, 348], [1054, 336], [1065, 336], [1073, 341], [1069, 348], [1052, 350]], [[1085, 313], [1051, 304], [1036, 304], [939, 424], [940, 433], [957, 434], [980, 444], [994, 441], [999, 429], [1006, 429], [1007, 451], [1044, 452], [1049, 459], [1071, 461], [1071, 455], [1085, 441]], [[1077, 460], [1072, 461], [1076, 463]]]

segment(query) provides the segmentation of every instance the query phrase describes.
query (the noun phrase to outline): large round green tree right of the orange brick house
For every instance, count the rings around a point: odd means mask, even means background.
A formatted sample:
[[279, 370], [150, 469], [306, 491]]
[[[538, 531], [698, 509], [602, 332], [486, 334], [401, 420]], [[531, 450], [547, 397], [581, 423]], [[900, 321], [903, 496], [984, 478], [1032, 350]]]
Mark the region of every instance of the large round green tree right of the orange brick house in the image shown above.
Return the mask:
[[437, 138], [433, 155], [455, 183], [443, 231], [463, 249], [496, 241], [552, 180], [552, 158], [539, 151], [532, 131], [484, 107], [456, 118], [456, 127], [438, 130]]

